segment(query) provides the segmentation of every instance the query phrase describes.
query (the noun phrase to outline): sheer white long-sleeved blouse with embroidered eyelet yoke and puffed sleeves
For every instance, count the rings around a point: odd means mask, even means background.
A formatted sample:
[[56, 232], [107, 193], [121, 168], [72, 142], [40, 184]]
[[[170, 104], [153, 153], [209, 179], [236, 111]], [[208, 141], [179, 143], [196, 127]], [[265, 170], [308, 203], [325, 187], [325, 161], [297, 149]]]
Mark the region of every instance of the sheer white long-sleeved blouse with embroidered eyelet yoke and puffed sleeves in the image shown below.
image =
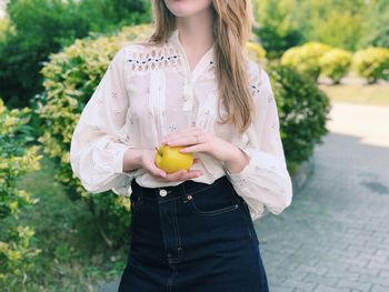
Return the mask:
[[193, 181], [210, 184], [227, 174], [247, 202], [252, 220], [263, 214], [263, 207], [279, 214], [291, 203], [292, 183], [267, 72], [255, 62], [248, 63], [258, 114], [239, 134], [233, 125], [217, 123], [213, 50], [209, 49], [190, 71], [176, 30], [163, 46], [127, 44], [117, 52], [71, 139], [71, 168], [89, 192], [112, 190], [130, 195], [132, 179], [148, 188], [181, 183], [157, 181], [143, 169], [124, 172], [123, 154], [129, 148], [153, 150], [166, 134], [198, 127], [239, 147], [250, 161], [241, 172], [230, 173], [209, 154], [194, 153], [200, 163], [192, 169], [203, 175]]

